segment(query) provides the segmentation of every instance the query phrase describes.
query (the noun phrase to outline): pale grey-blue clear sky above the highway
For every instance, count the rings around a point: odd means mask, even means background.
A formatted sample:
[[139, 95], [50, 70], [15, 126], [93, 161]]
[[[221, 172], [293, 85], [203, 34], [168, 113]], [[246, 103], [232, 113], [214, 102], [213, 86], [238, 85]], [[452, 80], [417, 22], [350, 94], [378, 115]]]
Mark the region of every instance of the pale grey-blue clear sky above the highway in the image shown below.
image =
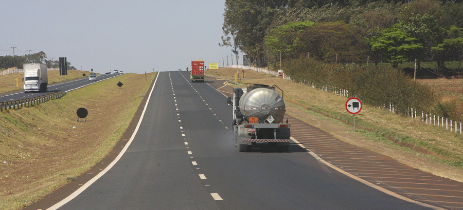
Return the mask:
[[[186, 70], [191, 60], [231, 65], [220, 47], [225, 0], [3, 1], [0, 56], [43, 51], [78, 70]], [[241, 56], [239, 55], [239, 58]], [[236, 59], [233, 60], [236, 64]], [[242, 64], [242, 61], [240, 61]], [[189, 67], [191, 68], [191, 67]]]

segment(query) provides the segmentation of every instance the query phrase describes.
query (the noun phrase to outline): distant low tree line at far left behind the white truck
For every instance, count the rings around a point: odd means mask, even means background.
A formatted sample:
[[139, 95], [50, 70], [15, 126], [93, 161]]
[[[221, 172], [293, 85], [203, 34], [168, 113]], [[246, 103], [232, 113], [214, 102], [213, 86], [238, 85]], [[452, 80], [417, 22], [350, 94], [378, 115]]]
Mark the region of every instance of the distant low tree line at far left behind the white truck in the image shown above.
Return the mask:
[[[41, 63], [46, 64], [47, 68], [60, 68], [60, 61], [57, 60], [47, 60], [47, 54], [43, 51], [34, 54], [25, 54], [22, 55], [15, 55], [14, 57], [11, 55], [0, 56], [0, 69], [9, 69], [9, 68], [17, 68], [22, 69], [24, 64], [28, 63]], [[71, 66], [70, 62], [67, 61], [67, 70], [77, 70], [75, 67]]]

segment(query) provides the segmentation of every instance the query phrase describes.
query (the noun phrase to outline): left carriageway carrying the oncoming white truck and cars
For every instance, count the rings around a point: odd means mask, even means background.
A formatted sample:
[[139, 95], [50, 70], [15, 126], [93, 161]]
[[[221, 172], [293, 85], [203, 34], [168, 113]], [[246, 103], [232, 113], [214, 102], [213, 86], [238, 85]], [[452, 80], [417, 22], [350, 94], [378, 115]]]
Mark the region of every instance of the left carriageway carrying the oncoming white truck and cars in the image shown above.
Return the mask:
[[88, 76], [86, 76], [86, 77], [79, 78], [79, 79], [53, 83], [53, 84], [48, 85], [46, 92], [40, 92], [40, 93], [39, 92], [24, 93], [24, 90], [3, 93], [3, 94], [0, 94], [0, 102], [22, 100], [22, 99], [27, 99], [27, 98], [43, 96], [43, 95], [47, 95], [50, 93], [56, 93], [56, 92], [69, 92], [75, 89], [79, 89], [79, 88], [91, 85], [94, 82], [100, 82], [105, 79], [109, 79], [109, 78], [119, 76], [119, 75], [120, 74], [101, 74], [97, 76], [97, 79], [98, 79], [97, 81], [88, 81]]

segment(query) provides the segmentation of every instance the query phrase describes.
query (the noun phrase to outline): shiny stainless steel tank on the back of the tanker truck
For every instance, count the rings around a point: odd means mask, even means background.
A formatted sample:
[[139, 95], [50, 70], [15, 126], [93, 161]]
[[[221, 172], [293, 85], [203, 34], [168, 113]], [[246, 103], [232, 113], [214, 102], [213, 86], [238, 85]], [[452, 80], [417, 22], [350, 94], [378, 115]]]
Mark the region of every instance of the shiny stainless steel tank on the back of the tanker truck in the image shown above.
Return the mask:
[[286, 109], [283, 98], [276, 91], [256, 88], [241, 96], [240, 112], [247, 121], [250, 117], [257, 117], [259, 123], [279, 123]]

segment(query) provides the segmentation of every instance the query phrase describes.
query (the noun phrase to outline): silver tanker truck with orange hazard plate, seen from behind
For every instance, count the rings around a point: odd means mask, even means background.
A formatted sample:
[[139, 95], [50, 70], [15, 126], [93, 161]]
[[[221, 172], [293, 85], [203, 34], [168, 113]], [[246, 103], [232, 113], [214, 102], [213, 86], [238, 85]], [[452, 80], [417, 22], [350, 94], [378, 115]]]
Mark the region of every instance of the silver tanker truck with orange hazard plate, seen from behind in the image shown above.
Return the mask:
[[281, 123], [286, 110], [275, 87], [255, 84], [246, 89], [234, 88], [233, 99], [227, 98], [228, 105], [233, 106], [233, 140], [240, 152], [264, 146], [288, 152], [290, 124], [288, 119]]

